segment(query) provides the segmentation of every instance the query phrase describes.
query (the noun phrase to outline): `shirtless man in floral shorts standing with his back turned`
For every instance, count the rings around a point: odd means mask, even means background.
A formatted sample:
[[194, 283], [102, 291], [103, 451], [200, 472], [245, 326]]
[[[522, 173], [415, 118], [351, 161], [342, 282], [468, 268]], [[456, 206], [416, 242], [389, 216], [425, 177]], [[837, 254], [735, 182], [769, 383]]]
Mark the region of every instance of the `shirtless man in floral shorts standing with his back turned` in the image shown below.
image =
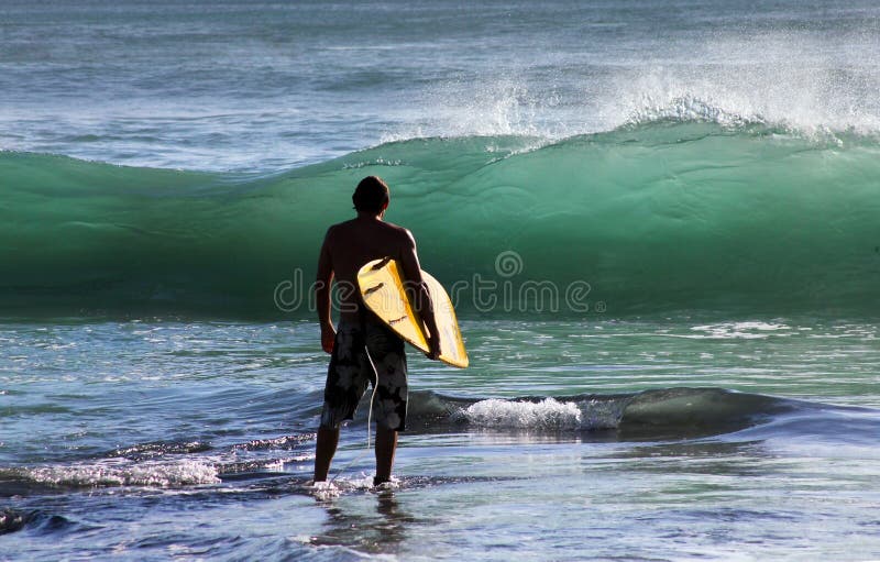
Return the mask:
[[[352, 201], [358, 218], [330, 227], [318, 260], [315, 285], [321, 348], [331, 353], [321, 423], [315, 452], [315, 482], [323, 482], [339, 443], [339, 427], [352, 419], [367, 384], [376, 385], [376, 475], [373, 485], [391, 481], [397, 432], [406, 426], [406, 355], [404, 341], [366, 310], [358, 290], [358, 272], [367, 262], [397, 260], [414, 289], [416, 312], [430, 333], [428, 357], [440, 354], [440, 340], [428, 289], [421, 278], [416, 241], [408, 230], [384, 221], [388, 186], [376, 176], [358, 184]], [[330, 287], [336, 277], [340, 300], [339, 329], [330, 318]]]

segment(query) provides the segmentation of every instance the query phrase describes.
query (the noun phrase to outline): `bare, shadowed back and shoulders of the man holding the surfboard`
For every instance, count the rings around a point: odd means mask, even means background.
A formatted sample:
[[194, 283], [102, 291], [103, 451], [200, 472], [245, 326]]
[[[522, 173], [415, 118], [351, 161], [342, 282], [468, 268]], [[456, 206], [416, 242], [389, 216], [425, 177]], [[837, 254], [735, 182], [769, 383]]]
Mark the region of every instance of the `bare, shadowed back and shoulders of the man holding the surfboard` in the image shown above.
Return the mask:
[[318, 280], [336, 277], [342, 318], [356, 319], [358, 272], [364, 264], [393, 257], [408, 279], [421, 282], [416, 244], [406, 229], [378, 218], [359, 217], [330, 227], [318, 262]]

